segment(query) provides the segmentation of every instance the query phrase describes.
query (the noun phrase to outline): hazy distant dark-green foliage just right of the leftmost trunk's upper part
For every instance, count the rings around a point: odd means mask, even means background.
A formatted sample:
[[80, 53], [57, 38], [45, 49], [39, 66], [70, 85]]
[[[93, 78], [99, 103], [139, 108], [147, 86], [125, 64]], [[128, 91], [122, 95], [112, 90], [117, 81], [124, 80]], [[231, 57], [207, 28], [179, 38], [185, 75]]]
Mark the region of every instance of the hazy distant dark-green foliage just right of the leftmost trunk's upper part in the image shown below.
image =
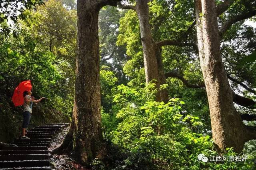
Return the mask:
[[116, 45], [119, 33], [119, 20], [124, 12], [114, 6], [105, 6], [99, 12], [99, 41], [101, 65], [109, 66], [118, 77], [119, 84], [126, 84], [123, 65], [128, 60], [125, 45]]

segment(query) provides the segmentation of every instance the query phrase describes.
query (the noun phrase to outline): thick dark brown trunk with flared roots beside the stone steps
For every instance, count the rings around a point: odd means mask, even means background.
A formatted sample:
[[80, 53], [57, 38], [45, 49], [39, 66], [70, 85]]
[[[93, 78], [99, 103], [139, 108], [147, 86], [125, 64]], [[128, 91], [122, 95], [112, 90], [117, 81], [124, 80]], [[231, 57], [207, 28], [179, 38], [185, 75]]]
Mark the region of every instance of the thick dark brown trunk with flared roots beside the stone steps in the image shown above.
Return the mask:
[[62, 145], [52, 153], [72, 150], [75, 159], [87, 164], [104, 158], [100, 114], [99, 1], [78, 0], [76, 81], [72, 123]]

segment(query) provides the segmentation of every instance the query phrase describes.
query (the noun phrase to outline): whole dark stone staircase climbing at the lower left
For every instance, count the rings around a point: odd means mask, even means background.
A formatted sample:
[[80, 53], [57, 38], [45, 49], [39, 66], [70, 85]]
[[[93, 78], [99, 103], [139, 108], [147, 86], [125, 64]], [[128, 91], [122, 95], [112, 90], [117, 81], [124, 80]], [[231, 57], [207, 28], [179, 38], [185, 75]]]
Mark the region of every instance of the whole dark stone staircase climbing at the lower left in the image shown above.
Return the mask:
[[48, 146], [52, 138], [67, 124], [45, 124], [29, 130], [30, 139], [16, 139], [16, 146], [0, 150], [0, 170], [50, 170]]

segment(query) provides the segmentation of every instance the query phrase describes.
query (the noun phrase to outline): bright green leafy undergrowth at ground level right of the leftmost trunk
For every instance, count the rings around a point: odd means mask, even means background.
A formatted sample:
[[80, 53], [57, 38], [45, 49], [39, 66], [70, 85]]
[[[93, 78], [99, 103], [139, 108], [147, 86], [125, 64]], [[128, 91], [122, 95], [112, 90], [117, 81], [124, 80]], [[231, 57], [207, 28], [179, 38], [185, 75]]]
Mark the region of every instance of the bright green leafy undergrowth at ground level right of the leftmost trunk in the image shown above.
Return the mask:
[[[123, 84], [114, 86], [114, 74], [102, 71], [101, 75], [102, 86], [108, 87], [109, 93], [106, 96], [112, 101], [112, 107], [108, 111], [104, 106], [102, 108], [103, 135], [111, 148], [110, 153], [114, 160], [114, 165], [105, 167], [106, 169], [256, 168], [254, 155], [247, 155], [246, 161], [241, 162], [210, 162], [211, 156], [219, 156], [214, 148], [212, 136], [197, 132], [198, 128], [203, 127], [203, 123], [200, 118], [184, 109], [185, 103], [182, 99], [171, 98], [166, 104], [156, 102], [154, 83], [147, 86], [142, 84], [144, 88]], [[108, 86], [104, 86], [107, 82]], [[111, 93], [114, 94], [112, 98]], [[198, 160], [198, 154], [204, 154], [209, 159], [208, 162]], [[243, 153], [240, 154], [242, 155]], [[236, 157], [238, 154], [233, 152], [232, 148], [227, 148], [226, 156]], [[97, 161], [94, 161], [94, 166]]]

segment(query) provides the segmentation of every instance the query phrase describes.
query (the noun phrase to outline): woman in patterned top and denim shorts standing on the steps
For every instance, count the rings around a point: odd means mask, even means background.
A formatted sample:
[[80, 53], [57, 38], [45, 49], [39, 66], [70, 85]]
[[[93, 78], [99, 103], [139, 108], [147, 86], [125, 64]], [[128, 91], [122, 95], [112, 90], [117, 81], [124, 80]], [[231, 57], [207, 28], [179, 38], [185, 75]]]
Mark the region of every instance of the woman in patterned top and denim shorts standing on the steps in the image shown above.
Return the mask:
[[25, 132], [26, 132], [26, 128], [28, 128], [28, 124], [31, 118], [33, 102], [38, 103], [45, 98], [45, 97], [42, 97], [38, 100], [34, 100], [34, 97], [32, 97], [31, 94], [32, 94], [31, 91], [24, 91], [23, 93], [23, 97], [24, 97], [24, 104], [22, 105], [23, 106], [23, 112], [22, 112], [23, 123], [22, 123], [22, 136], [20, 137], [20, 139], [30, 139], [27, 136], [25, 136]]

